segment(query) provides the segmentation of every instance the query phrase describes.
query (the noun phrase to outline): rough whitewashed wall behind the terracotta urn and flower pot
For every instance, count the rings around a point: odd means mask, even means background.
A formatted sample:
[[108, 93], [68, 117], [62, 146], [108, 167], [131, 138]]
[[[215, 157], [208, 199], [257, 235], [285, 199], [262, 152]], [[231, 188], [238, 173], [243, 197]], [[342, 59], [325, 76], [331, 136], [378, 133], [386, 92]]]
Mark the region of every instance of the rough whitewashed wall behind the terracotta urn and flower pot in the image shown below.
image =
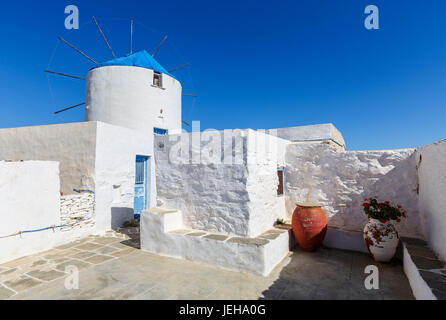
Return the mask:
[[286, 208], [311, 200], [322, 204], [329, 226], [361, 231], [367, 221], [365, 198], [401, 204], [408, 218], [397, 223], [401, 235], [423, 237], [418, 210], [414, 149], [335, 152], [323, 145], [288, 145], [285, 156]]

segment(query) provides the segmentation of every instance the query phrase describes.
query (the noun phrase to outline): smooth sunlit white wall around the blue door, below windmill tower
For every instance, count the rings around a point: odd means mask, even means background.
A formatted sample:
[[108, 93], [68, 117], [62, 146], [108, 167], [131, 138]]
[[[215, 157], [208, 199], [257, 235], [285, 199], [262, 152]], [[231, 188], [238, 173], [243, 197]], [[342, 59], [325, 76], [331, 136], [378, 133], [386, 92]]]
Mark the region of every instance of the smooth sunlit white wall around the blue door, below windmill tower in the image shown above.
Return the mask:
[[[97, 122], [96, 231], [122, 227], [133, 217], [136, 156], [152, 156], [153, 134]], [[150, 158], [153, 167], [153, 157]], [[151, 168], [153, 170], [153, 168]], [[148, 175], [149, 207], [156, 203], [156, 180]]]

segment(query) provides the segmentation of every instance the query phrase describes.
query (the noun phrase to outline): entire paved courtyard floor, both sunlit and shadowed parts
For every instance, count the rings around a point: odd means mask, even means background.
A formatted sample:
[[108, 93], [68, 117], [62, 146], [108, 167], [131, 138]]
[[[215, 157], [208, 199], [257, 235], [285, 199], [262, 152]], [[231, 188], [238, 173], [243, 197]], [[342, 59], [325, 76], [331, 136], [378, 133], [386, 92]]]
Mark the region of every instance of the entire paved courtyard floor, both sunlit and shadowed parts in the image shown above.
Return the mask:
[[[138, 250], [137, 233], [88, 237], [0, 266], [0, 299], [413, 299], [402, 266], [358, 252], [296, 249], [269, 277]], [[78, 290], [65, 289], [65, 267], [80, 269]], [[364, 268], [380, 270], [366, 290]]]

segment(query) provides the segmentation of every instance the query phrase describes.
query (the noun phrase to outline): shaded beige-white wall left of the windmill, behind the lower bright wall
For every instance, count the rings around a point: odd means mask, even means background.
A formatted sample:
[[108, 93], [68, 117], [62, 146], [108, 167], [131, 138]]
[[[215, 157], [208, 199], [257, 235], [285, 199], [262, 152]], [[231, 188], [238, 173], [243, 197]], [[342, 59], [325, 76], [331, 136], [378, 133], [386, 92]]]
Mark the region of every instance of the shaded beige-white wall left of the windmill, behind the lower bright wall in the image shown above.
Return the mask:
[[94, 189], [96, 123], [0, 129], [0, 160], [59, 161], [61, 191]]

